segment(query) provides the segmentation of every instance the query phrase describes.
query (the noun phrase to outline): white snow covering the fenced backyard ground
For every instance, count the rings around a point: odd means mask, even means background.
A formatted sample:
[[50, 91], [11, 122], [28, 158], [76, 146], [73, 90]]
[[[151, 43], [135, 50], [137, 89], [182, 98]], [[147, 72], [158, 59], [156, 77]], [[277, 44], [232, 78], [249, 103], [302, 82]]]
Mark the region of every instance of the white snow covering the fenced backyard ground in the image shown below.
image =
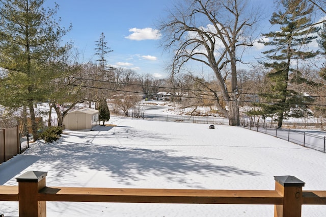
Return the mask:
[[[113, 117], [93, 131], [65, 130], [55, 143], [30, 144], [0, 165], [0, 185], [27, 171], [47, 171], [47, 186], [266, 189], [292, 175], [304, 190], [326, 190], [326, 155], [241, 127]], [[47, 202], [47, 216], [274, 216], [274, 205]], [[302, 216], [326, 206], [303, 205]], [[0, 214], [18, 216], [17, 202]]]

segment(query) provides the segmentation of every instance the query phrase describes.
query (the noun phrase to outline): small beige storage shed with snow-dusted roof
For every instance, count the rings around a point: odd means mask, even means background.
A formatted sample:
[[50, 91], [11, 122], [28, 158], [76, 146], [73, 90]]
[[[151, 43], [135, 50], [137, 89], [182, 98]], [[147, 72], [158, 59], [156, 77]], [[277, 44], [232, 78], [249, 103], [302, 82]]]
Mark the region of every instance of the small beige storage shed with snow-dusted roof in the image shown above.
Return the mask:
[[65, 129], [70, 130], [92, 130], [93, 126], [99, 124], [98, 110], [82, 108], [68, 112], [63, 120]]

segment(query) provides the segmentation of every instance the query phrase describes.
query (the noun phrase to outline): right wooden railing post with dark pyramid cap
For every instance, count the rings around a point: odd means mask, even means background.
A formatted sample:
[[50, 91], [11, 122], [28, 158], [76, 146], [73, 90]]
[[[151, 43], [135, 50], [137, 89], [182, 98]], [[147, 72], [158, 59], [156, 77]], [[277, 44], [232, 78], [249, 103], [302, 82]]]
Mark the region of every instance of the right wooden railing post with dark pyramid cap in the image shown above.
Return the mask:
[[305, 182], [294, 176], [275, 176], [275, 190], [283, 196], [283, 204], [275, 205], [275, 217], [300, 217], [302, 187]]

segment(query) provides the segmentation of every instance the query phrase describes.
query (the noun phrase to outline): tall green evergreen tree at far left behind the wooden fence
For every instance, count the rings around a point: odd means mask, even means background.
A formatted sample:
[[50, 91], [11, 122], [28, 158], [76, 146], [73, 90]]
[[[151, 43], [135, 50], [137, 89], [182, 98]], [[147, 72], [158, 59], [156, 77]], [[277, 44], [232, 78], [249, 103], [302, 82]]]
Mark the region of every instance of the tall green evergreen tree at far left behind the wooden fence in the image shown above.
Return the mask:
[[[43, 0], [0, 0], [0, 67], [6, 70], [0, 86], [8, 106], [29, 108], [34, 141], [38, 139], [34, 103], [46, 99], [49, 81], [58, 76], [51, 62], [69, 46], [60, 45], [66, 30], [60, 28], [54, 9]], [[12, 103], [11, 103], [12, 102]]]

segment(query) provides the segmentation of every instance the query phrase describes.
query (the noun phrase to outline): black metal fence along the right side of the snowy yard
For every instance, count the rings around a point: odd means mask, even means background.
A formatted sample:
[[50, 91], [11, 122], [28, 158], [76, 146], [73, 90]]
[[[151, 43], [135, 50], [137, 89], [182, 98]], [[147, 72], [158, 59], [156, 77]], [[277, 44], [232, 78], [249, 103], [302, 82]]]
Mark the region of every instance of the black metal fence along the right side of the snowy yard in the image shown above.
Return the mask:
[[274, 137], [326, 153], [326, 137], [322, 135], [307, 133], [303, 130], [280, 128], [277, 126], [267, 127], [266, 124], [256, 126], [253, 126], [253, 124], [247, 124], [243, 125], [243, 128], [255, 130], [257, 132], [262, 132], [268, 135], [273, 135]]

